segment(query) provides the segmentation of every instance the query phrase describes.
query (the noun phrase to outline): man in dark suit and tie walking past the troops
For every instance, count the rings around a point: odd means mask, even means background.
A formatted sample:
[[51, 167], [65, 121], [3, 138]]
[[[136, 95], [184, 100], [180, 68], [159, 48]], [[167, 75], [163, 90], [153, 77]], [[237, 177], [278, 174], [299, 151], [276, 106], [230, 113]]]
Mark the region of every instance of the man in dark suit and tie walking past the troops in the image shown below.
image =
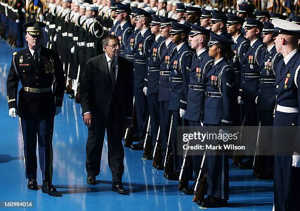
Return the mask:
[[[127, 194], [122, 185], [124, 172], [123, 127], [131, 125], [133, 109], [133, 66], [120, 57], [120, 41], [108, 35], [102, 41], [104, 54], [89, 59], [82, 75], [80, 102], [88, 127], [86, 182], [96, 185], [100, 172], [105, 129], [112, 190]], [[122, 68], [121, 68], [122, 67]]]

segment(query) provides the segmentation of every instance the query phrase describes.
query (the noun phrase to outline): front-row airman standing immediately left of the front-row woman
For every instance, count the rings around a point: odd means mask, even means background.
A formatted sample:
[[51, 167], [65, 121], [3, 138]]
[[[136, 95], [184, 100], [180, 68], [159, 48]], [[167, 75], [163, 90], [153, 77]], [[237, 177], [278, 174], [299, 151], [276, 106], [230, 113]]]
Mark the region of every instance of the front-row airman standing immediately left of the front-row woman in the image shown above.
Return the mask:
[[[189, 41], [192, 49], [196, 50], [192, 59], [192, 66], [189, 72], [189, 90], [185, 101], [186, 112], [184, 118], [188, 120], [188, 126], [196, 129], [195, 127], [201, 127], [201, 117], [204, 108], [205, 100], [205, 86], [203, 84], [203, 69], [205, 64], [213, 58], [208, 56], [207, 44], [210, 39], [210, 31], [201, 26], [191, 24], [191, 32], [189, 34]], [[197, 131], [197, 130], [194, 130]], [[190, 153], [189, 153], [190, 154]], [[192, 167], [194, 174], [197, 176], [200, 171], [202, 156], [194, 155], [191, 156]], [[191, 165], [189, 165], [191, 166]], [[203, 172], [203, 171], [202, 171]], [[192, 180], [186, 175], [185, 181]], [[188, 186], [188, 182], [186, 184]], [[182, 192], [188, 195], [193, 195], [195, 184], [192, 187], [184, 187]]]

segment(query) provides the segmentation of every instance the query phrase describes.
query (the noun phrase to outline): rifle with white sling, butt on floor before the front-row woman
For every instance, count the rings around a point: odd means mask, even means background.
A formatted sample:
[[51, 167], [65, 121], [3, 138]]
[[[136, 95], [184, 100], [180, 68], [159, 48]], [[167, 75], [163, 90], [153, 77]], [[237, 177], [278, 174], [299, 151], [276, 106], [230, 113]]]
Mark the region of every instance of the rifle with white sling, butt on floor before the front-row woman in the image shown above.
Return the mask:
[[201, 172], [204, 166], [204, 161], [205, 161], [205, 151], [203, 154], [203, 158], [202, 158], [202, 162], [201, 162], [201, 167], [200, 167], [200, 171], [199, 171], [199, 175], [196, 181], [196, 185], [195, 185], [195, 189], [194, 189], [194, 198], [193, 198], [193, 202], [200, 202], [204, 199], [204, 195], [206, 192], [206, 174], [204, 173], [204, 176], [200, 179], [201, 176]]

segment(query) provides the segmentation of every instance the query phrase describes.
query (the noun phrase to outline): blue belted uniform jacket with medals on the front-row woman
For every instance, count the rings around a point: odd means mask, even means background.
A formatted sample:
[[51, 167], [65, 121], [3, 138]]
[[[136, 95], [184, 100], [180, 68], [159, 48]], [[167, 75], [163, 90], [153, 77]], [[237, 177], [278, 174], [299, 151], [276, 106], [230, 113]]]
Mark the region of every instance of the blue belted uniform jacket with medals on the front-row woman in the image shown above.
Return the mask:
[[234, 69], [225, 59], [213, 64], [214, 60], [204, 67], [206, 97], [203, 123], [229, 126], [234, 122], [236, 105]]

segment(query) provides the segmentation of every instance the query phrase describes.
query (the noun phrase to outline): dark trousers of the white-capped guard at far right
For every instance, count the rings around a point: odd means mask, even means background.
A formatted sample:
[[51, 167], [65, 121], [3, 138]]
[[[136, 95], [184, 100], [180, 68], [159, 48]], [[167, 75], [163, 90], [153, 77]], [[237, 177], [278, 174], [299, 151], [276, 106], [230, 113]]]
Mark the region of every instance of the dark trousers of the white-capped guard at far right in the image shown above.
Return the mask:
[[299, 211], [300, 168], [292, 167], [291, 155], [275, 155], [275, 211]]

